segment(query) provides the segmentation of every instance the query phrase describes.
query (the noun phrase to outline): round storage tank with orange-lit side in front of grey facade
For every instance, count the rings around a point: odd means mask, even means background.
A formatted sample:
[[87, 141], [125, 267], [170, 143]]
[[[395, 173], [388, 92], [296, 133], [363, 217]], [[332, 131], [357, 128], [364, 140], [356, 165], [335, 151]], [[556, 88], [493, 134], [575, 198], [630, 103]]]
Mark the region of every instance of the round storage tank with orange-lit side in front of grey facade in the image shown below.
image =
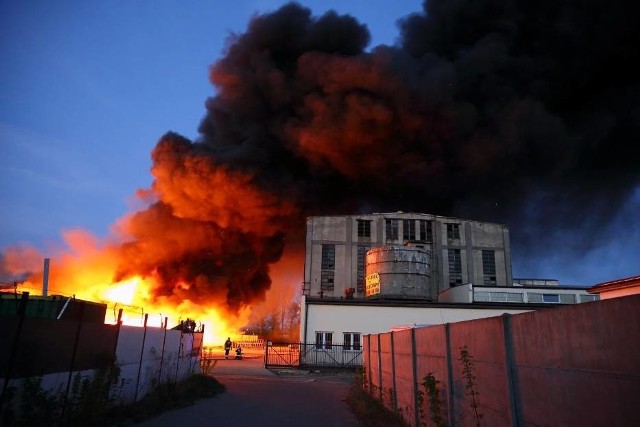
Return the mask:
[[431, 254], [415, 246], [382, 246], [367, 252], [367, 298], [437, 300], [431, 286]]

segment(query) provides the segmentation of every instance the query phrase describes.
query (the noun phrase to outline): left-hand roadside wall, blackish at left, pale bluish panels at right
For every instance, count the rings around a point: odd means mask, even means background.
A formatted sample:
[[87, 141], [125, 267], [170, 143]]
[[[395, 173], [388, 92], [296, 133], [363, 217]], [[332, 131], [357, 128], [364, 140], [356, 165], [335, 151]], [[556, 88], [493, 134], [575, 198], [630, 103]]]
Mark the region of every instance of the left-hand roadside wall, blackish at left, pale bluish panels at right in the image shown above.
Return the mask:
[[[3, 324], [10, 326], [16, 320], [17, 317], [5, 318]], [[34, 366], [38, 369], [32, 369], [30, 376], [41, 378], [41, 387], [51, 393], [65, 393], [67, 384], [73, 381], [76, 375], [91, 377], [96, 369], [111, 366], [114, 362], [120, 368], [119, 383], [111, 390], [117, 403], [140, 400], [159, 383], [178, 382], [200, 372], [203, 336], [201, 332], [183, 333], [179, 330], [124, 325], [118, 330], [116, 325], [83, 324], [75, 343], [73, 337], [61, 341], [58, 337], [70, 334], [70, 328], [75, 333], [78, 322], [30, 318], [24, 320], [25, 325], [17, 341], [16, 354], [27, 354], [26, 351], [32, 353], [28, 360], [36, 360]], [[44, 332], [50, 335], [49, 339], [42, 339], [42, 331], [31, 327], [43, 327], [43, 322], [47, 324]], [[12, 332], [13, 330], [7, 327], [3, 329], [3, 351], [6, 350], [7, 354], [13, 351]], [[116, 337], [117, 344], [114, 345]], [[105, 342], [101, 344], [100, 340]], [[70, 374], [70, 361], [74, 350], [77, 363], [73, 365]], [[34, 359], [37, 355], [40, 358]], [[5, 362], [8, 360], [7, 357]], [[47, 363], [47, 360], [50, 363]], [[7, 372], [5, 362], [0, 373], [3, 377]], [[21, 362], [14, 362], [14, 365], [7, 386], [20, 390], [25, 378], [23, 373], [26, 371], [25, 368], [21, 368]], [[0, 378], [0, 383], [4, 384], [4, 381], [4, 378]], [[18, 392], [16, 396], [19, 395]], [[15, 401], [14, 404], [17, 405], [19, 402]]]

